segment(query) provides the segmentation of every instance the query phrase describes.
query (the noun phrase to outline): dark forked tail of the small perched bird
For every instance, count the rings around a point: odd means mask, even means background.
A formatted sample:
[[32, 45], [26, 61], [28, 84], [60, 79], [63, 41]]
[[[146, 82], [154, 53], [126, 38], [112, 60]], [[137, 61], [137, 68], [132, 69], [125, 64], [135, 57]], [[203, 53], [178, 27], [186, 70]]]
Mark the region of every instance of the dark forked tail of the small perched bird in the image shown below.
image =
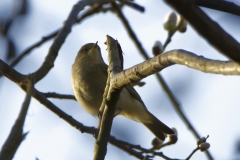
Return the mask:
[[173, 130], [148, 112], [148, 120], [141, 121], [157, 138], [164, 141], [165, 134], [174, 134]]

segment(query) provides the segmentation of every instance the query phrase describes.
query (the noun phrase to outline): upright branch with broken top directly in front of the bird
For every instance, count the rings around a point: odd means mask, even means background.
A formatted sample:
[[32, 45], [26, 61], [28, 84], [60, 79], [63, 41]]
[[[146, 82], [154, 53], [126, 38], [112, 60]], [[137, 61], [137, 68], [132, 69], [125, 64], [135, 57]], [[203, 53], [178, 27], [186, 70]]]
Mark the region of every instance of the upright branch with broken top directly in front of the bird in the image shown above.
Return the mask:
[[[117, 41], [107, 35], [107, 46], [108, 46], [108, 76], [111, 79], [121, 71], [121, 62], [119, 59], [119, 53], [117, 48]], [[112, 88], [110, 85], [106, 104], [103, 112], [103, 116], [100, 123], [99, 135], [97, 137], [94, 146], [94, 160], [103, 160], [107, 152], [107, 143], [110, 138], [110, 131], [112, 127], [112, 121], [114, 118], [116, 104], [121, 93], [120, 89]]]

